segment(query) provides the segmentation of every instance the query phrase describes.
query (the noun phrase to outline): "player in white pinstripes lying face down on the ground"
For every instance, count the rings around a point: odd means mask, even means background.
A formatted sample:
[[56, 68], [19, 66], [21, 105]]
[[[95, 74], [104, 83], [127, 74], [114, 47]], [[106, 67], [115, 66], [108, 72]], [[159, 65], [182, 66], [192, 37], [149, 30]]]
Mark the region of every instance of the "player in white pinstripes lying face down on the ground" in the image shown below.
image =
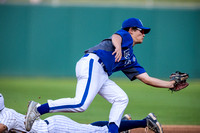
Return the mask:
[[[3, 95], [0, 94], [0, 133], [27, 132], [24, 125], [25, 116], [13, 109], [6, 108]], [[154, 116], [150, 113], [143, 120], [122, 120], [119, 131], [126, 131], [138, 127], [148, 127], [157, 132], [162, 131], [162, 127]], [[37, 119], [33, 123], [30, 133], [108, 133], [108, 121], [97, 121], [91, 124], [80, 124], [68, 117], [55, 115], [45, 120]]]

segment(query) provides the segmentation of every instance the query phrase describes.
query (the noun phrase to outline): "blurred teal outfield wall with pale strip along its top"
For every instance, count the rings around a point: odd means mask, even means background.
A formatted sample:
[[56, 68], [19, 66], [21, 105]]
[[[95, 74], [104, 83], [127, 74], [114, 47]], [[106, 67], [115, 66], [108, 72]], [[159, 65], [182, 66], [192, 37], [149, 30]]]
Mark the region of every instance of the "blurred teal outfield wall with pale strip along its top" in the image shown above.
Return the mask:
[[0, 76], [75, 76], [84, 50], [136, 17], [152, 29], [134, 48], [151, 76], [200, 78], [200, 0], [0, 1]]

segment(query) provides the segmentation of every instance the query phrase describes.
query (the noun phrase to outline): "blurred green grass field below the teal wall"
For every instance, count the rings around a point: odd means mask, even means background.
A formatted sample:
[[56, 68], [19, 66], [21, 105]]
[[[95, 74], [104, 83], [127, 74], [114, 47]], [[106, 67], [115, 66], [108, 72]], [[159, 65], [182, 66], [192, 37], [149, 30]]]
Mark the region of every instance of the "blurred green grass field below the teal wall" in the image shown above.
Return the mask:
[[[186, 89], [171, 93], [167, 89], [153, 88], [140, 81], [113, 79], [129, 96], [125, 113], [134, 119], [143, 119], [154, 112], [162, 124], [200, 125], [200, 80], [189, 81]], [[0, 93], [5, 105], [25, 114], [29, 100], [46, 103], [48, 99], [75, 96], [75, 78], [0, 78]], [[83, 113], [49, 113], [69, 116], [81, 123], [108, 120], [111, 104], [97, 95]]]

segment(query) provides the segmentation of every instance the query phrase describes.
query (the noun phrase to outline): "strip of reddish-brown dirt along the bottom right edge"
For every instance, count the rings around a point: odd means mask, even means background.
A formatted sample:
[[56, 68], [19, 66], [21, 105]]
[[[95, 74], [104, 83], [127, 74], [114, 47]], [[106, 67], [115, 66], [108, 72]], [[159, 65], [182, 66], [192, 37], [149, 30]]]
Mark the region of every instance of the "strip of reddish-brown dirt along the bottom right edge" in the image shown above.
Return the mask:
[[[200, 125], [163, 125], [164, 133], [200, 133]], [[145, 133], [144, 128], [138, 128], [131, 130], [131, 133]], [[153, 133], [148, 130], [148, 133]]]

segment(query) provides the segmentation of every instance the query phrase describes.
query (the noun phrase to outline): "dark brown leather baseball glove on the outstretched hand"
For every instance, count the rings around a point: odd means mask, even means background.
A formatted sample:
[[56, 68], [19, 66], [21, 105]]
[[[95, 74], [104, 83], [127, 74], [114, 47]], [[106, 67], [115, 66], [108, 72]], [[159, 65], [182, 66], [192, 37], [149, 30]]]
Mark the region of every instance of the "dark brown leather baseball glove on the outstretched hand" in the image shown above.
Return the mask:
[[186, 81], [189, 78], [189, 75], [187, 73], [176, 71], [175, 73], [172, 73], [169, 78], [170, 78], [170, 81], [172, 80], [175, 81], [174, 87], [169, 88], [172, 92], [180, 91], [189, 85], [189, 83], [187, 83]]

